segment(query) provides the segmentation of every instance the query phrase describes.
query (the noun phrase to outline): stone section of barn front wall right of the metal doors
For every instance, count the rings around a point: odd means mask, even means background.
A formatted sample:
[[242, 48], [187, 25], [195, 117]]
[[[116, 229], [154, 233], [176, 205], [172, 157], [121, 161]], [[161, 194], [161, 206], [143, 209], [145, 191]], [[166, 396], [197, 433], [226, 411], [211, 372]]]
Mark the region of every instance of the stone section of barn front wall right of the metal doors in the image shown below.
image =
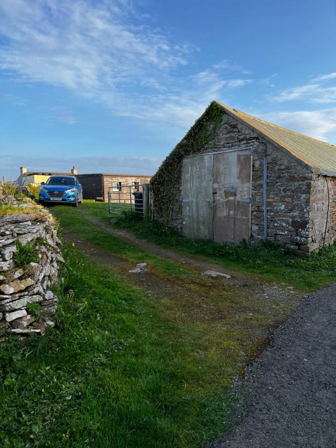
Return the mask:
[[[260, 139], [261, 140], [261, 139]], [[267, 141], [253, 149], [251, 244], [264, 238], [263, 166], [267, 157], [267, 238], [308, 251], [312, 169]]]

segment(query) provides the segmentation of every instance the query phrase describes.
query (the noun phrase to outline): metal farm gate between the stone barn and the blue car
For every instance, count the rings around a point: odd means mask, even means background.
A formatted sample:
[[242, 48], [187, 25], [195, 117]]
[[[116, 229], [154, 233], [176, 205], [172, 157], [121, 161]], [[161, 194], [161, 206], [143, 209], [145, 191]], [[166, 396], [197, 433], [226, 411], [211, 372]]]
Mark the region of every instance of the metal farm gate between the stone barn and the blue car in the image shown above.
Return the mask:
[[122, 215], [122, 212], [146, 214], [148, 207], [148, 184], [117, 185], [109, 187], [109, 213]]

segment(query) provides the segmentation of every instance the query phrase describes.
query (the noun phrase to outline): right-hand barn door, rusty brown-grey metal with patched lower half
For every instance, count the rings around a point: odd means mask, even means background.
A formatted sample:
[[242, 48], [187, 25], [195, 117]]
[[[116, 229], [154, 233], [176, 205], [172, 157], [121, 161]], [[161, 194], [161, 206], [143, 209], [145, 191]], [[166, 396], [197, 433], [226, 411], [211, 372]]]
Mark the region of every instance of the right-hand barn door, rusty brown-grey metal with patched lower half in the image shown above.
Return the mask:
[[251, 152], [214, 154], [214, 239], [238, 244], [249, 241]]

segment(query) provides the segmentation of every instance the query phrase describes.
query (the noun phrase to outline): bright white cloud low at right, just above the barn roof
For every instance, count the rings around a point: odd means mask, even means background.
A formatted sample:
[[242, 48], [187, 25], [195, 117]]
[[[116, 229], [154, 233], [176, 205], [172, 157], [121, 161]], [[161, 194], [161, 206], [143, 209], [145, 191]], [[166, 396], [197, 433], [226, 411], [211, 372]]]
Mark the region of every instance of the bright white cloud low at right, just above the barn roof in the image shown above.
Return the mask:
[[[336, 132], [336, 109], [298, 112], [270, 112], [258, 114], [266, 121], [300, 132], [304, 135], [329, 141], [329, 133]], [[332, 141], [331, 143], [336, 143]]]

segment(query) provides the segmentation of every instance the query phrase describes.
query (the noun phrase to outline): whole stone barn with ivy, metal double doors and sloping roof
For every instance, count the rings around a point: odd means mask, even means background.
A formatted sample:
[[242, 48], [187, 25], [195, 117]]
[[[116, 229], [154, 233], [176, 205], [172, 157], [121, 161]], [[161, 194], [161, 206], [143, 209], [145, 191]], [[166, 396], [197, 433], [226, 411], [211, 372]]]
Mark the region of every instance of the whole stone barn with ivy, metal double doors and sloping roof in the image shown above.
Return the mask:
[[336, 238], [336, 147], [218, 102], [150, 185], [155, 219], [191, 238], [302, 253]]

